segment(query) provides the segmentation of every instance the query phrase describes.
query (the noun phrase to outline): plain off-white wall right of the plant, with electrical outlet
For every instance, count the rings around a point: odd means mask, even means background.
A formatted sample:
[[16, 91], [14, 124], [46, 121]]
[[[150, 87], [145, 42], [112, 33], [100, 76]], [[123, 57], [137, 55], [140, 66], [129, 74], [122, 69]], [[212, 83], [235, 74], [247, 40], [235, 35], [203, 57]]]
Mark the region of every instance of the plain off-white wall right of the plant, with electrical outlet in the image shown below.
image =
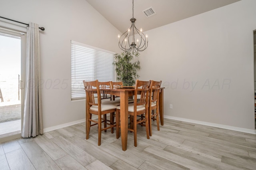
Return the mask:
[[254, 130], [255, 9], [242, 0], [146, 32], [139, 75], [162, 80], [164, 115]]

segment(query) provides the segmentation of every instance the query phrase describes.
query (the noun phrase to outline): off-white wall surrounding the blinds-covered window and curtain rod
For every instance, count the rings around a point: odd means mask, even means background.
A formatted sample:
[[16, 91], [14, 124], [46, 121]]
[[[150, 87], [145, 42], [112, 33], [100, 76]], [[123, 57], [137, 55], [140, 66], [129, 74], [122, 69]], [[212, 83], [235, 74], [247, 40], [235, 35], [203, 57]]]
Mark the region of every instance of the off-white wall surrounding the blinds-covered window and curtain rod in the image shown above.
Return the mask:
[[[46, 29], [40, 32], [44, 128], [85, 119], [85, 101], [70, 99], [70, 40], [119, 51], [120, 32], [86, 0], [1, 0], [0, 13]], [[0, 27], [16, 25], [0, 19]]]

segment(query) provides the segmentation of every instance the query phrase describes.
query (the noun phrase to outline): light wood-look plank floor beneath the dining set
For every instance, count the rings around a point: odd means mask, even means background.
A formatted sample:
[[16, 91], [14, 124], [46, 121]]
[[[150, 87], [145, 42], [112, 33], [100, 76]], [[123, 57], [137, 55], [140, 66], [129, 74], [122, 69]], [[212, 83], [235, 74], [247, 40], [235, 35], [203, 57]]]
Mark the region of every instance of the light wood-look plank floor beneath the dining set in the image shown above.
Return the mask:
[[85, 123], [0, 144], [1, 170], [255, 170], [256, 135], [165, 119], [152, 136], [138, 126], [138, 146], [128, 132], [128, 146], [110, 130], [97, 127], [85, 139]]

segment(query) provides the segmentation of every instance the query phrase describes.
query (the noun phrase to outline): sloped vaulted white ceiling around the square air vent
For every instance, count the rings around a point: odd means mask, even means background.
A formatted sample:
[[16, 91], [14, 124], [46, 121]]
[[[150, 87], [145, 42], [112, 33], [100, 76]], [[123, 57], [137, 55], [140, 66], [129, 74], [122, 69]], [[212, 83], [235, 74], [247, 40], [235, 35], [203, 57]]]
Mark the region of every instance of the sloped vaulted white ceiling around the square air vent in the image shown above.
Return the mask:
[[[131, 25], [132, 0], [86, 0], [120, 32]], [[143, 31], [170, 24], [240, 0], [134, 0], [136, 27]], [[143, 10], [152, 7], [156, 14], [147, 17]]]

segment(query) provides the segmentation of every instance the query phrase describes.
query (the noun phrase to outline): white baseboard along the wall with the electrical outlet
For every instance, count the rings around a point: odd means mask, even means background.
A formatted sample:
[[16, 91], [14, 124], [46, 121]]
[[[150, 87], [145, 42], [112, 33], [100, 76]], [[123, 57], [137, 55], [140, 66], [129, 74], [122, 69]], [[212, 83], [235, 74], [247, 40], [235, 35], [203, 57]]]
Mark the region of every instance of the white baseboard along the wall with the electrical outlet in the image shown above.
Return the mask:
[[164, 118], [173, 119], [173, 120], [176, 120], [176, 121], [196, 123], [196, 124], [199, 124], [199, 125], [206, 125], [206, 126], [210, 126], [210, 127], [218, 127], [218, 128], [228, 129], [228, 130], [235, 130], [235, 131], [238, 131], [238, 132], [256, 134], [256, 130], [247, 129], [247, 128], [238, 128], [238, 127], [220, 125], [220, 124], [216, 124], [216, 123], [209, 123], [209, 122], [203, 122], [203, 121], [196, 121], [196, 120], [192, 120], [192, 119], [184, 119], [184, 118], [180, 118], [180, 117], [173, 117], [173, 116], [167, 116], [167, 115], [165, 115]]

